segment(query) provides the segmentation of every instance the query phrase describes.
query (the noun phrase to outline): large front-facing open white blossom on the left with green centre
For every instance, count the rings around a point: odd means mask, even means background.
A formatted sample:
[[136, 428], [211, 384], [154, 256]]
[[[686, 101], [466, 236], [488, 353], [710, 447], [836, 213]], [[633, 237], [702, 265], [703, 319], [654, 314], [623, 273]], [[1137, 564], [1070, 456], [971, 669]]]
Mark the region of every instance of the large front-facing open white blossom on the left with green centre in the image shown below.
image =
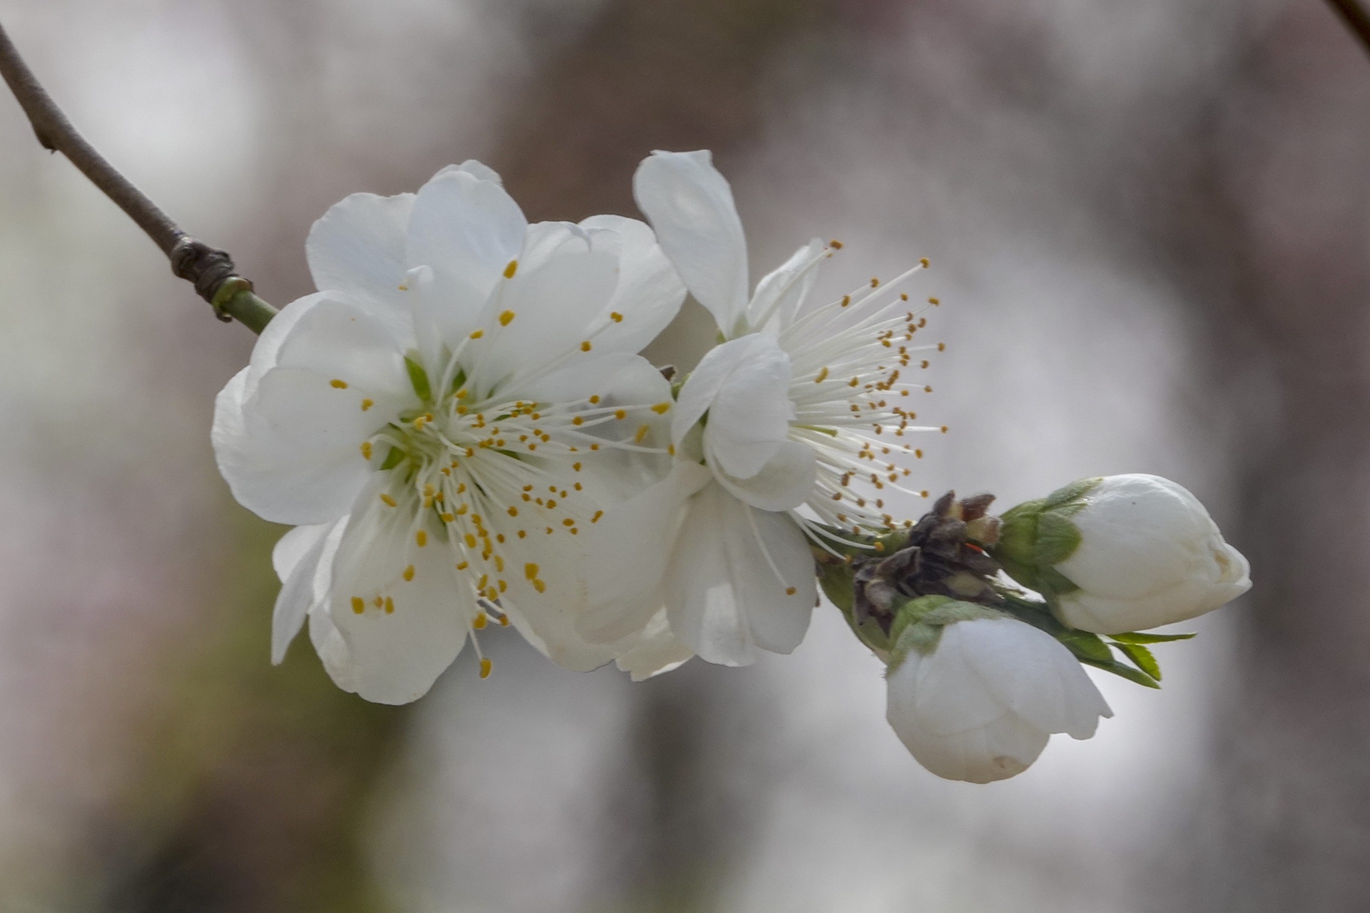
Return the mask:
[[527, 224], [469, 162], [342, 200], [307, 252], [319, 292], [266, 327], [214, 424], [237, 500], [299, 526], [275, 552], [274, 658], [308, 616], [334, 680], [388, 704], [488, 620], [574, 669], [685, 658], [664, 617], [608, 645], [573, 627], [570, 542], [669, 460], [670, 389], [634, 353], [685, 290], [651, 229]]

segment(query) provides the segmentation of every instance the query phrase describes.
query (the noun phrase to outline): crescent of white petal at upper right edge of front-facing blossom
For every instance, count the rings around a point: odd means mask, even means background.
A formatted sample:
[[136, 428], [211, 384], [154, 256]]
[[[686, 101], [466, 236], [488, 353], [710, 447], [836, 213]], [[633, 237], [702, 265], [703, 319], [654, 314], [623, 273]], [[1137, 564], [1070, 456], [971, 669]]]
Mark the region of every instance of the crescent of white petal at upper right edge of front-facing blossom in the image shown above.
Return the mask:
[[[608, 326], [595, 337], [595, 345], [606, 350], [640, 352], [680, 312], [685, 301], [685, 283], [644, 222], [597, 215], [581, 222], [581, 227], [607, 229], [622, 241], [618, 286], [601, 313]], [[611, 313], [622, 319], [614, 320]]]

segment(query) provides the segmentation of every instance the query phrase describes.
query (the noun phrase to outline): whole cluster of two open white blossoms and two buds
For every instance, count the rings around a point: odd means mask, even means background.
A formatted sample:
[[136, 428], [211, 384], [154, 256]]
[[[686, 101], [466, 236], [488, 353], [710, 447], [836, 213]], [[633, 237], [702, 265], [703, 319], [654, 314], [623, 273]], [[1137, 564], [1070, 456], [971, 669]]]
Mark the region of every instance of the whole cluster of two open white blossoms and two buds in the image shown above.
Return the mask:
[[[985, 782], [1110, 716], [1081, 663], [1154, 684], [1144, 645], [1175, 635], [1136, 631], [1249, 586], [1155, 476], [896, 519], [900, 493], [926, 497], [914, 435], [945, 431], [915, 424], [941, 345], [919, 335], [936, 300], [903, 289], [926, 261], [811, 303], [841, 246], [814, 240], [754, 289], [707, 152], [653, 153], [634, 192], [649, 224], [529, 224], [467, 162], [315, 223], [319, 290], [267, 324], [214, 422], [237, 500], [296, 527], [274, 661], [308, 623], [333, 680], [385, 704], [489, 624], [577, 671], [744, 665], [800, 643], [822, 586], [888, 664], [914, 757]], [[686, 293], [719, 342], [673, 383], [637, 353]]]

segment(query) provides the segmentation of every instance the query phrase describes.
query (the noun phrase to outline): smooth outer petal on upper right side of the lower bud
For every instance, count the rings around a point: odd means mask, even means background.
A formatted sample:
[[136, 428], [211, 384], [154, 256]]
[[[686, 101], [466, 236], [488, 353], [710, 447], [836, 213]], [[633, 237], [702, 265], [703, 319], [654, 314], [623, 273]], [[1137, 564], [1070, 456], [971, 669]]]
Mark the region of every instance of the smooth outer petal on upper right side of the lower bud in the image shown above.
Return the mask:
[[1080, 661], [1049, 634], [1012, 619], [958, 621], [944, 639], [954, 631], [986, 690], [1038, 730], [1088, 739], [1100, 716], [1112, 716]]

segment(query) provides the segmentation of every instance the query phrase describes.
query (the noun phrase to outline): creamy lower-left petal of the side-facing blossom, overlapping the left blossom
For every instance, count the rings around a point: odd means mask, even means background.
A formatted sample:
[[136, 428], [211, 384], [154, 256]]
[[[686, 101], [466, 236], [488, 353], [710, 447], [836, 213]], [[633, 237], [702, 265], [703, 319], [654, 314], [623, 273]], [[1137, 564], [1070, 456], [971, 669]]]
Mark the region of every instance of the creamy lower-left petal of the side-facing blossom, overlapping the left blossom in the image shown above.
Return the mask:
[[662, 576], [685, 502], [710, 478], [697, 463], [677, 460], [666, 479], [610, 508], [585, 531], [589, 600], [577, 628], [586, 639], [614, 643], [641, 630], [662, 608]]

